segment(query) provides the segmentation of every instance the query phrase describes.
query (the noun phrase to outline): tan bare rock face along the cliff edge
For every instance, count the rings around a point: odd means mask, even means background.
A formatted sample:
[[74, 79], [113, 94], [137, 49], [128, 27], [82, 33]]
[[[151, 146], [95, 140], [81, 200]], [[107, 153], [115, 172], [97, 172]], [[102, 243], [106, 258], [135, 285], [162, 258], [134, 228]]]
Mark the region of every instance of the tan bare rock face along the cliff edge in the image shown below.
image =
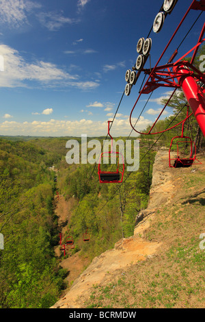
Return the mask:
[[148, 208], [137, 214], [134, 236], [122, 238], [113, 249], [94, 258], [90, 266], [74, 281], [64, 298], [59, 299], [51, 308], [83, 308], [81, 295], [88, 298], [94, 285], [106, 285], [115, 278], [115, 271], [118, 269], [146, 260], [156, 253], [161, 244], [143, 239], [143, 233], [150, 226], [150, 219], [156, 215], [156, 208], [159, 208], [161, 204], [169, 203], [174, 193], [172, 174], [167, 166], [167, 156], [168, 153], [164, 149], [156, 154], [150, 201]]

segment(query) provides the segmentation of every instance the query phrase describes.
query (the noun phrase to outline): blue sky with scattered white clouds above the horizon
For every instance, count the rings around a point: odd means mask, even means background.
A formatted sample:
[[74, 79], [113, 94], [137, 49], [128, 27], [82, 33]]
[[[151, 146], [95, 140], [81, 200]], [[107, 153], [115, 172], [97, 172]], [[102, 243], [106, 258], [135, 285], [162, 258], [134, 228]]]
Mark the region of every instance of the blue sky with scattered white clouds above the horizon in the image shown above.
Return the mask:
[[[159, 34], [152, 31], [152, 66], [191, 0], [179, 0]], [[163, 0], [0, 0], [0, 135], [104, 136], [118, 108], [124, 75], [134, 66], [137, 41], [148, 35]], [[199, 12], [192, 10], [165, 53], [167, 62]], [[178, 58], [197, 42], [204, 13], [184, 41]], [[148, 64], [148, 63], [147, 63]], [[124, 95], [113, 136], [128, 136], [128, 117], [143, 76]], [[152, 95], [137, 123], [141, 130], [156, 118], [161, 97]], [[138, 117], [148, 95], [133, 114]], [[167, 109], [163, 117], [171, 114]]]

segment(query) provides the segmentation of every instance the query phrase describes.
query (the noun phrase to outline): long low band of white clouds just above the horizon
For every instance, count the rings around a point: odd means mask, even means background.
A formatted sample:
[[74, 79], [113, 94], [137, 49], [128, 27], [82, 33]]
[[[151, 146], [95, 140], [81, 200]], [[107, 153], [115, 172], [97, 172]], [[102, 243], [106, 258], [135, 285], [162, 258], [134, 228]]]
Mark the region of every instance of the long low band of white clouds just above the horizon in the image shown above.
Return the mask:
[[[80, 119], [79, 121], [54, 120], [33, 121], [23, 123], [15, 121], [4, 121], [0, 123], [0, 132], [2, 135], [33, 135], [33, 136], [105, 136], [107, 134], [107, 121], [92, 121], [90, 119]], [[137, 119], [133, 118], [133, 124]], [[137, 130], [141, 131], [152, 124], [148, 119], [140, 117], [137, 122]], [[131, 132], [129, 118], [115, 119], [111, 128], [111, 135], [128, 136]], [[137, 135], [133, 132], [132, 136]]]

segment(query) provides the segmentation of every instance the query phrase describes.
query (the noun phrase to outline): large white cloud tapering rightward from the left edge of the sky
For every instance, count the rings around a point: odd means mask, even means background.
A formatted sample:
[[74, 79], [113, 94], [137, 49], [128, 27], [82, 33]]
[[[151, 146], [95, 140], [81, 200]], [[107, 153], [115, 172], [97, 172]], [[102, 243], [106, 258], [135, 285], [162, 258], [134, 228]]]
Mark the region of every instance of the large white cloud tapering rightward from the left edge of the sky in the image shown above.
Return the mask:
[[[18, 51], [7, 45], [0, 45], [4, 58], [4, 72], [1, 73], [0, 87], [29, 87], [39, 82], [45, 87], [75, 87], [90, 90], [99, 86], [97, 82], [79, 82], [78, 75], [70, 75], [51, 62], [28, 63]], [[33, 85], [34, 86], [34, 85]]]

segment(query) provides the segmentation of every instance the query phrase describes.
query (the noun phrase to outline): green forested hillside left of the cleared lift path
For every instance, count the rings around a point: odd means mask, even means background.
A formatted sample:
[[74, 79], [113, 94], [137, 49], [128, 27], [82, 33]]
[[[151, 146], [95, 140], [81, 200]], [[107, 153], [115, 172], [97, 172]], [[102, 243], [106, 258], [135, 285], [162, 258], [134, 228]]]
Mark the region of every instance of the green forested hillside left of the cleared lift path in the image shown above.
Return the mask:
[[55, 182], [48, 168], [60, 158], [32, 142], [0, 141], [1, 308], [46, 308], [64, 287], [53, 253]]

